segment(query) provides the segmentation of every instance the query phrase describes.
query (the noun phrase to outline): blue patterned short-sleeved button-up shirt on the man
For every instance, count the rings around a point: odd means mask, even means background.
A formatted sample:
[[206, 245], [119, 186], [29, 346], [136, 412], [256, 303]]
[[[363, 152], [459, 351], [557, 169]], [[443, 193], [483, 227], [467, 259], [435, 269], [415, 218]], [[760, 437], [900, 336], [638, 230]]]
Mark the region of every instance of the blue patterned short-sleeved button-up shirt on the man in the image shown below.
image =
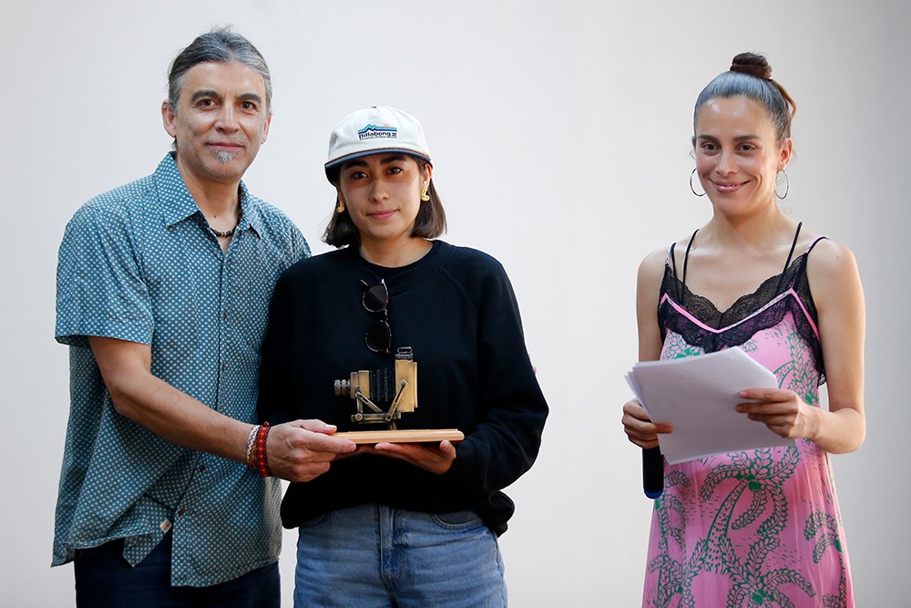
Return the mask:
[[54, 565], [120, 538], [136, 564], [169, 530], [174, 585], [217, 584], [278, 559], [278, 479], [181, 448], [119, 415], [87, 341], [149, 345], [152, 374], [253, 423], [272, 288], [310, 249], [242, 182], [240, 194], [227, 254], [170, 154], [147, 178], [88, 201], [67, 225], [56, 339], [70, 347], [70, 415]]

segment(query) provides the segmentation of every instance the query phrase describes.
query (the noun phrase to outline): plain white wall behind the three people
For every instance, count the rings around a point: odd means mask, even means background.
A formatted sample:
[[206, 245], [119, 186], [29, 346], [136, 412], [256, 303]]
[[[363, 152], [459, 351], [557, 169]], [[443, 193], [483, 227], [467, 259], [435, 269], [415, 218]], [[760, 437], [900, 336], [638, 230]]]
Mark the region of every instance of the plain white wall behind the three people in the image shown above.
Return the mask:
[[[799, 111], [793, 215], [855, 252], [868, 315], [864, 448], [834, 458], [860, 606], [907, 606], [903, 378], [911, 9], [902, 0], [630, 3], [0, 0], [0, 605], [73, 605], [50, 569], [67, 420], [56, 250], [83, 201], [148, 174], [170, 59], [233, 24], [269, 61], [275, 116], [251, 190], [319, 235], [336, 121], [394, 105], [425, 126], [447, 240], [490, 252], [515, 284], [552, 406], [540, 459], [509, 491], [502, 538], [515, 606], [640, 603], [650, 501], [627, 443], [640, 259], [691, 232], [692, 104], [738, 52], [768, 55]], [[905, 237], [905, 238], [903, 238]], [[293, 535], [282, 554], [292, 586]], [[290, 605], [290, 602], [289, 602]]]

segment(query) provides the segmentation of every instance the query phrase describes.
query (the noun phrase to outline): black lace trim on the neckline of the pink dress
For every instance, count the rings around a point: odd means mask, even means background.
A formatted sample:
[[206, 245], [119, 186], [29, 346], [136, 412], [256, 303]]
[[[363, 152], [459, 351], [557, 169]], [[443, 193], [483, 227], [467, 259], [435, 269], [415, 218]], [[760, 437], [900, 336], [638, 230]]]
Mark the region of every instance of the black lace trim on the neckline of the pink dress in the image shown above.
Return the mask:
[[[818, 240], [816, 241], [818, 242]], [[792, 313], [797, 332], [810, 346], [814, 357], [814, 366], [819, 373], [818, 384], [822, 385], [824, 378], [824, 363], [822, 346], [816, 337], [810, 321], [806, 318], [801, 305], [804, 305], [807, 314], [817, 324], [816, 306], [813, 295], [810, 294], [810, 283], [806, 278], [806, 263], [809, 253], [815, 243], [803, 255], [791, 263], [783, 273], [769, 277], [752, 294], [742, 295], [725, 311], [719, 311], [711, 300], [698, 294], [693, 294], [681, 280], [675, 276], [672, 267], [672, 257], [664, 268], [664, 279], [661, 282], [660, 304], [658, 308], [658, 323], [663, 339], [668, 331], [679, 334], [687, 344], [700, 347], [707, 353], [712, 353], [722, 348], [739, 346], [747, 342], [757, 332], [778, 325], [789, 311]], [[779, 302], [769, 306], [763, 312], [755, 314], [766, 304], [771, 303], [776, 297], [792, 289], [799, 298], [798, 303], [793, 297], [785, 296]], [[664, 300], [667, 294], [670, 300], [680, 304], [702, 324], [721, 333], [711, 332], [691, 322], [683, 314], [678, 313], [670, 302]], [[750, 317], [750, 318], [748, 318]]]

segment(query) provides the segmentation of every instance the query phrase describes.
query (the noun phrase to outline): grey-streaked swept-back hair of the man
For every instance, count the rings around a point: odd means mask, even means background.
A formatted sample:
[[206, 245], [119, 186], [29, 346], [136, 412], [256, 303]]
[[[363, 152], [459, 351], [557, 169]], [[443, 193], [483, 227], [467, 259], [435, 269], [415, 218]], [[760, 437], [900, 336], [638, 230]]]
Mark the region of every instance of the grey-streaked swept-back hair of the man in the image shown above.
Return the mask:
[[266, 89], [266, 111], [272, 111], [272, 80], [269, 66], [250, 40], [228, 28], [213, 29], [193, 40], [171, 62], [168, 74], [168, 103], [177, 113], [183, 77], [191, 67], [207, 62], [240, 63], [262, 77]]

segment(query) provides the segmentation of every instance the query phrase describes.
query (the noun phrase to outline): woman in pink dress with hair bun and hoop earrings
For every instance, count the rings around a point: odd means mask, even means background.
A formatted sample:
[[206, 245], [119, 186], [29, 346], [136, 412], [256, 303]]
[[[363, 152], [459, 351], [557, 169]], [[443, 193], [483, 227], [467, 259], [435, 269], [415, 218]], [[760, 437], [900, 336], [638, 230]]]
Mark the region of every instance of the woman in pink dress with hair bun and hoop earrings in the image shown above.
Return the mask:
[[[744, 386], [737, 410], [796, 442], [665, 463], [643, 605], [854, 605], [829, 453], [865, 437], [864, 296], [852, 253], [776, 204], [794, 103], [771, 76], [764, 57], [738, 55], [696, 101], [704, 194], [691, 188], [712, 217], [641, 264], [640, 358], [741, 347], [780, 387]], [[672, 431], [635, 400], [623, 425], [641, 448]]]

